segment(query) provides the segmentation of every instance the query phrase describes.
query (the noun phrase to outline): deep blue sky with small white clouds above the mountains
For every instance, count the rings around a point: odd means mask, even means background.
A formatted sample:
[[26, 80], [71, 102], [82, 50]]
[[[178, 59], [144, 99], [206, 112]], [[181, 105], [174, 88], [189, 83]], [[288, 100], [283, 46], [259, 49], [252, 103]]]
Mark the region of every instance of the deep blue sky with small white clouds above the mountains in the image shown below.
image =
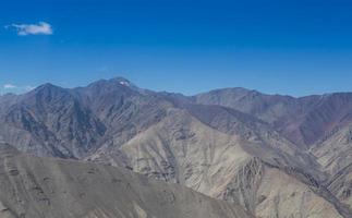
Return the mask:
[[124, 76], [187, 95], [348, 92], [351, 11], [348, 0], [2, 2], [0, 89]]

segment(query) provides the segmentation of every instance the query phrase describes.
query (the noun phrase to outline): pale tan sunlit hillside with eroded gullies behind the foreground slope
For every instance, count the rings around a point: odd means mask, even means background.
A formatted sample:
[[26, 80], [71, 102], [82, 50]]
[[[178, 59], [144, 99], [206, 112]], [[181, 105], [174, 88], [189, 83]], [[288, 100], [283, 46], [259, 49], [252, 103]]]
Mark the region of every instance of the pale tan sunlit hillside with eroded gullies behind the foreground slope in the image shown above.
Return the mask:
[[[272, 145], [278, 142], [271, 138]], [[240, 203], [258, 217], [277, 213], [330, 218], [341, 217], [339, 211], [349, 216], [331, 193], [301, 173], [311, 160], [299, 152], [293, 158], [290, 153], [295, 146], [287, 146], [245, 141], [205, 125], [185, 110], [172, 110], [121, 148], [101, 149], [90, 160], [125, 165], [148, 177]]]

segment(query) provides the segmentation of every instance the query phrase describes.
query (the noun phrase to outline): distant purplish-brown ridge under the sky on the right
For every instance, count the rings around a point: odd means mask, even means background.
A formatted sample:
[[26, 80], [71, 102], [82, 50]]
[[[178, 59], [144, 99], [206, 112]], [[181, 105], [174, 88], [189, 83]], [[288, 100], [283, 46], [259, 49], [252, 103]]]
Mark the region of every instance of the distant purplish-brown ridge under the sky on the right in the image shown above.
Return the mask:
[[255, 116], [302, 148], [311, 147], [335, 129], [352, 121], [352, 93], [293, 98], [226, 88], [199, 94], [194, 101], [230, 107]]

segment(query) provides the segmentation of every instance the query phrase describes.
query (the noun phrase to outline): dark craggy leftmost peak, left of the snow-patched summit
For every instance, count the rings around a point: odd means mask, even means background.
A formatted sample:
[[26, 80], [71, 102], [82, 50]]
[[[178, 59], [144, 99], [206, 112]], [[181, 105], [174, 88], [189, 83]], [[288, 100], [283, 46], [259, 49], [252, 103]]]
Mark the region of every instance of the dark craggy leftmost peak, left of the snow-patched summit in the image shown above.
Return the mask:
[[39, 156], [80, 157], [106, 131], [71, 90], [51, 84], [20, 96], [0, 119], [5, 142]]

